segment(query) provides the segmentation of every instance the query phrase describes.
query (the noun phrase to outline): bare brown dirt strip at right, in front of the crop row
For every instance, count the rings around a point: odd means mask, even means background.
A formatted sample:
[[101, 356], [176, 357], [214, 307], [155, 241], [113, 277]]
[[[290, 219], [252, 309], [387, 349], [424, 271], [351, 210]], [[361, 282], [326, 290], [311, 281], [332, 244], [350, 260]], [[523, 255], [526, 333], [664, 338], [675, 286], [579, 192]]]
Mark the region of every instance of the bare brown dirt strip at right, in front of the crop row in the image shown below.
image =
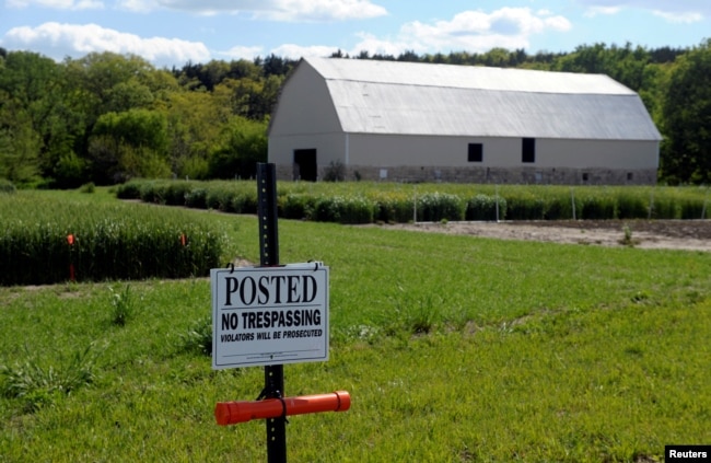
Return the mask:
[[711, 252], [711, 220], [566, 220], [448, 222], [382, 225], [394, 230], [543, 241]]

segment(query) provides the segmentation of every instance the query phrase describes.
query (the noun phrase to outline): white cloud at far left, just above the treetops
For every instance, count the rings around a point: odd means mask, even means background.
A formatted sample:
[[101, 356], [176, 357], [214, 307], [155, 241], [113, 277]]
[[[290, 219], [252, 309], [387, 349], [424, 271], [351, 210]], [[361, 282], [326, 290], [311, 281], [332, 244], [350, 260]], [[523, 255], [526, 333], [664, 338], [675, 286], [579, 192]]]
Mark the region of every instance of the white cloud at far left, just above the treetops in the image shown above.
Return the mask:
[[198, 42], [177, 38], [143, 38], [96, 24], [44, 23], [37, 27], [14, 27], [0, 40], [3, 47], [33, 49], [55, 59], [78, 57], [92, 51], [138, 55], [154, 65], [173, 66], [187, 61], [207, 62], [210, 51]]

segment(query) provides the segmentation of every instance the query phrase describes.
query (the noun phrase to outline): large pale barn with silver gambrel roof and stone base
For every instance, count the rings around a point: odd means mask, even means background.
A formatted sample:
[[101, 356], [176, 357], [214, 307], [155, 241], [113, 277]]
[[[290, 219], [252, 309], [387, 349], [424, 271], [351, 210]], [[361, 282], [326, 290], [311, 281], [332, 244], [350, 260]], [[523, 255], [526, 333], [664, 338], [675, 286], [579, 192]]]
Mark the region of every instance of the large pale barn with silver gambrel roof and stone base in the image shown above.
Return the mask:
[[654, 184], [661, 135], [607, 76], [304, 58], [270, 119], [281, 180]]

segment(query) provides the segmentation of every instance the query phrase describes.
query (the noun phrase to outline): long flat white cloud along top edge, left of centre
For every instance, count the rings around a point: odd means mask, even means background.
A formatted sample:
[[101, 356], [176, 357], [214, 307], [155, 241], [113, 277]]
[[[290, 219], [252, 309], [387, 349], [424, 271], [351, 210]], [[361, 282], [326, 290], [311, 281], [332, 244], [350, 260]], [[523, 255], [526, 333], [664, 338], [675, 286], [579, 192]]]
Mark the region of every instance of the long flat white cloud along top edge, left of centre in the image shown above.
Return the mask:
[[387, 14], [385, 8], [370, 0], [119, 0], [118, 4], [136, 12], [164, 9], [202, 15], [247, 13], [282, 22], [348, 21]]

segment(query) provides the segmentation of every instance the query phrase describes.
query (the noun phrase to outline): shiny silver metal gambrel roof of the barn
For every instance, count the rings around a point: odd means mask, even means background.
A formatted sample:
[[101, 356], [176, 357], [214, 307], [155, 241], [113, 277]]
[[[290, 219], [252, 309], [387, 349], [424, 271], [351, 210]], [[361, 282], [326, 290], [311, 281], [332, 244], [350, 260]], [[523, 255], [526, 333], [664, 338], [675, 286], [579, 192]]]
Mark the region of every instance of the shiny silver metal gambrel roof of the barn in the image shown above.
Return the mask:
[[346, 132], [661, 139], [639, 95], [607, 76], [357, 59], [304, 61], [325, 79]]

